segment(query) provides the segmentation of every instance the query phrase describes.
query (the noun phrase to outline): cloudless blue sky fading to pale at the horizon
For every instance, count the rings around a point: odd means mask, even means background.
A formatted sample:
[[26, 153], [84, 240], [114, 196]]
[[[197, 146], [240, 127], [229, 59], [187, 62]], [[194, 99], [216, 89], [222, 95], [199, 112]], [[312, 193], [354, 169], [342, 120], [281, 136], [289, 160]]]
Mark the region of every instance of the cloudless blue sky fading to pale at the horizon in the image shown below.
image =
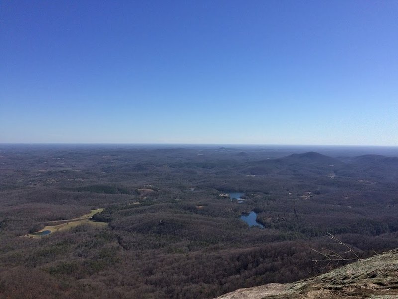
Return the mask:
[[0, 1], [0, 142], [398, 146], [398, 2]]

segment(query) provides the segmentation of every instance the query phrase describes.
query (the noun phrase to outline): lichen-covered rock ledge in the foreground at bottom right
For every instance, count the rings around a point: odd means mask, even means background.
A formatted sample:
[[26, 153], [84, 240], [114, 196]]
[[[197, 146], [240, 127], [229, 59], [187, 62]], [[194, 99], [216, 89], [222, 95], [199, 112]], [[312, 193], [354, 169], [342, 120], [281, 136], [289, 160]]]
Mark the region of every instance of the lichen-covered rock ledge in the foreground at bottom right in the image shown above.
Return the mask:
[[239, 289], [217, 299], [398, 299], [398, 249], [290, 284]]

